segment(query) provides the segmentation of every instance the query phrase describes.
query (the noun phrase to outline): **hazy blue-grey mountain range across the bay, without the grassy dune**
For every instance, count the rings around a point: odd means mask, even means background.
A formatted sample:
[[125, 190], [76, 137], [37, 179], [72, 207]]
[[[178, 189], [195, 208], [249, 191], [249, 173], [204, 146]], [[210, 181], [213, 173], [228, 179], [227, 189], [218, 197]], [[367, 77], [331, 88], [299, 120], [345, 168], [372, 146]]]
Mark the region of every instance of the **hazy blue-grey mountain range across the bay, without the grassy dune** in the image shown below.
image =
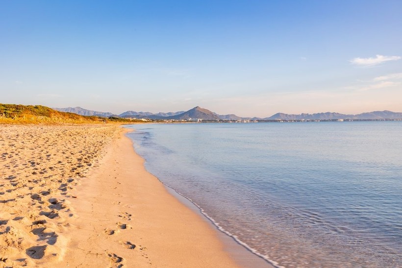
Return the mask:
[[61, 112], [70, 112], [78, 115], [84, 116], [100, 116], [100, 117], [123, 117], [123, 118], [148, 118], [148, 119], [157, 119], [157, 120], [189, 120], [189, 119], [202, 119], [207, 121], [217, 121], [217, 120], [385, 120], [385, 119], [402, 119], [402, 113], [395, 113], [391, 111], [375, 111], [370, 113], [362, 113], [358, 115], [345, 115], [340, 113], [317, 113], [317, 114], [284, 114], [277, 113], [271, 117], [267, 118], [250, 118], [250, 117], [239, 117], [234, 114], [230, 115], [218, 115], [214, 112], [211, 112], [207, 109], [201, 108], [199, 106], [194, 107], [186, 112], [169, 112], [169, 113], [151, 113], [151, 112], [134, 112], [134, 111], [126, 111], [120, 115], [114, 115], [112, 113], [105, 112], [97, 112], [86, 110], [81, 107], [68, 107], [68, 108], [53, 108], [55, 110]]

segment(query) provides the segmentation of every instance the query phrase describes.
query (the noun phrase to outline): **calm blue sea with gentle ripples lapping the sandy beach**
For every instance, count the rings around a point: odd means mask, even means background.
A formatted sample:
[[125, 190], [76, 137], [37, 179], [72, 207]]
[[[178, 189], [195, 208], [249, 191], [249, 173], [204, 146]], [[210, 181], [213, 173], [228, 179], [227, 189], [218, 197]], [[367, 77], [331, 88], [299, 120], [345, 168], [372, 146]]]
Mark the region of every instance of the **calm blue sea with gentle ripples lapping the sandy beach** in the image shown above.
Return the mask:
[[143, 124], [146, 168], [283, 267], [402, 267], [402, 122]]

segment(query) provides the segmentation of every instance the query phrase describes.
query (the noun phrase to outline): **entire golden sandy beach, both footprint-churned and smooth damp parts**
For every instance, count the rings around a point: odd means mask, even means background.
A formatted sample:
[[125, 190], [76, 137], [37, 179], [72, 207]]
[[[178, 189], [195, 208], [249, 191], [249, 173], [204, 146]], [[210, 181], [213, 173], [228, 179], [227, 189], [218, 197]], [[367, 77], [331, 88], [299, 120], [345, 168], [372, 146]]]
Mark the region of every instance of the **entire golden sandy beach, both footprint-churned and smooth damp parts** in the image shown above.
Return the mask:
[[0, 267], [238, 267], [126, 131], [0, 125]]

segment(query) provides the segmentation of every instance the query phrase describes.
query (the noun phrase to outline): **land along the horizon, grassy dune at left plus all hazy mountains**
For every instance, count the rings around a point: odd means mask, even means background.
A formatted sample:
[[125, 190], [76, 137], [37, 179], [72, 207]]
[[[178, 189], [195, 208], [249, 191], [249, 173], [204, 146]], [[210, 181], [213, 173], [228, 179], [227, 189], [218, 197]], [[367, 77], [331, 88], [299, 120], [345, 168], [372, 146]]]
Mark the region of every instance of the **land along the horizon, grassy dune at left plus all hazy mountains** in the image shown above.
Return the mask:
[[120, 115], [75, 108], [49, 108], [42, 105], [17, 105], [0, 103], [0, 123], [143, 123], [143, 122], [352, 122], [352, 121], [402, 121], [402, 113], [375, 111], [358, 115], [318, 113], [290, 115], [277, 113], [267, 118], [238, 117], [234, 114], [219, 115], [199, 106], [186, 112], [152, 114], [127, 111]]

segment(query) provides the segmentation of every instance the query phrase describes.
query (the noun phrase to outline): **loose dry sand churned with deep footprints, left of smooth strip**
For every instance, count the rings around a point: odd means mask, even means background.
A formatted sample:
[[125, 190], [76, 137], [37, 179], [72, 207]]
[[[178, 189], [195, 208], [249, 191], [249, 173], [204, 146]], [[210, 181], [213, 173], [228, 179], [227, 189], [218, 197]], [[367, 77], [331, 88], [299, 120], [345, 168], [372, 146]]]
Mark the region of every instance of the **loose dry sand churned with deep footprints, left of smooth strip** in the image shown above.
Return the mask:
[[0, 125], [0, 267], [61, 261], [75, 217], [70, 194], [117, 126]]

